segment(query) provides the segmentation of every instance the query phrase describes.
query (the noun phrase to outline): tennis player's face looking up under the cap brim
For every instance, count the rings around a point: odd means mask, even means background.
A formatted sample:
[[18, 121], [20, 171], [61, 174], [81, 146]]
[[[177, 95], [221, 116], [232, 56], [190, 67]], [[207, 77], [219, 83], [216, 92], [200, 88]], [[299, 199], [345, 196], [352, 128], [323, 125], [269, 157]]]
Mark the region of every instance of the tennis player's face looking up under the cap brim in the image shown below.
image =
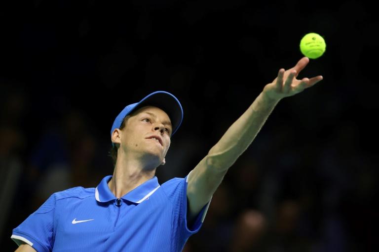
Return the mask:
[[162, 162], [170, 147], [172, 132], [168, 115], [160, 108], [146, 106], [135, 111], [120, 130], [119, 141], [123, 152], [150, 157]]

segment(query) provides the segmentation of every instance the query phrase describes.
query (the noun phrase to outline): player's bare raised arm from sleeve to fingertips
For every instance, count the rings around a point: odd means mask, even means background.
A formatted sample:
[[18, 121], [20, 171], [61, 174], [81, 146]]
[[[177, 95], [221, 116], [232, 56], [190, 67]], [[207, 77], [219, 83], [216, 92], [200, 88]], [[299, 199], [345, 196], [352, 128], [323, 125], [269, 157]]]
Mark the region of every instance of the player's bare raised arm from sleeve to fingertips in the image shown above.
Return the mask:
[[250, 107], [190, 172], [187, 189], [190, 220], [211, 199], [229, 167], [252, 143], [276, 104], [282, 98], [298, 94], [322, 80], [321, 75], [296, 79], [307, 63], [309, 59], [304, 57], [294, 67], [280, 69], [275, 80], [265, 86]]

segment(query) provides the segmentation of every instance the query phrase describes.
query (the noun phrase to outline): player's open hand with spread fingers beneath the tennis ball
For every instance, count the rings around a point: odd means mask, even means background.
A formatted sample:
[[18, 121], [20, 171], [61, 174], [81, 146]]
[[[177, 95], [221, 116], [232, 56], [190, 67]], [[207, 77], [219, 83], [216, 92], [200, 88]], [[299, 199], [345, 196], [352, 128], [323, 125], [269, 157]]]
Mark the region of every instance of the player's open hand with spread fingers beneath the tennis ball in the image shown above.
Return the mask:
[[301, 70], [309, 63], [307, 57], [303, 57], [294, 67], [285, 70], [281, 68], [278, 77], [272, 83], [269, 83], [263, 89], [264, 95], [270, 99], [280, 100], [284, 97], [296, 95], [304, 89], [312, 87], [323, 78], [321, 75], [312, 78], [296, 79]]

